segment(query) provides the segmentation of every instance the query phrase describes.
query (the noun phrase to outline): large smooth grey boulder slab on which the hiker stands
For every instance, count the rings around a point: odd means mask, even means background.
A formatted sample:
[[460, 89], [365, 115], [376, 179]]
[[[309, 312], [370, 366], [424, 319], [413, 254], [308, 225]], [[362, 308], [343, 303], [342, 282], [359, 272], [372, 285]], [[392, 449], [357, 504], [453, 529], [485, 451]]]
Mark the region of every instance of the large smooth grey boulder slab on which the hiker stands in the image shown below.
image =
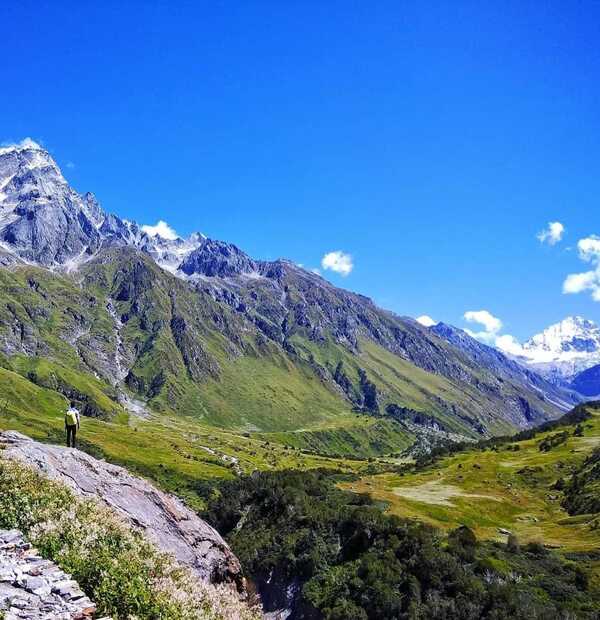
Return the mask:
[[29, 464], [78, 495], [102, 500], [203, 581], [234, 583], [242, 589], [240, 563], [227, 543], [176, 497], [122, 467], [80, 450], [38, 443], [16, 431], [0, 434], [0, 446], [4, 458]]

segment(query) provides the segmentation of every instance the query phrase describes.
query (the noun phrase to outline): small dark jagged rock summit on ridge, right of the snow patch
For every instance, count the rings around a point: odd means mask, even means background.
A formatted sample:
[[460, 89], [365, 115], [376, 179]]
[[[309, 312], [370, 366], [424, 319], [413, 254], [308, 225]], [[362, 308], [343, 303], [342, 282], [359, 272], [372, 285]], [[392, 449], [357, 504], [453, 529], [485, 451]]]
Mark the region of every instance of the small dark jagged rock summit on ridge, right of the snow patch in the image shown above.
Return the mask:
[[188, 276], [200, 274], [226, 278], [256, 272], [256, 263], [235, 245], [206, 239], [179, 267]]

